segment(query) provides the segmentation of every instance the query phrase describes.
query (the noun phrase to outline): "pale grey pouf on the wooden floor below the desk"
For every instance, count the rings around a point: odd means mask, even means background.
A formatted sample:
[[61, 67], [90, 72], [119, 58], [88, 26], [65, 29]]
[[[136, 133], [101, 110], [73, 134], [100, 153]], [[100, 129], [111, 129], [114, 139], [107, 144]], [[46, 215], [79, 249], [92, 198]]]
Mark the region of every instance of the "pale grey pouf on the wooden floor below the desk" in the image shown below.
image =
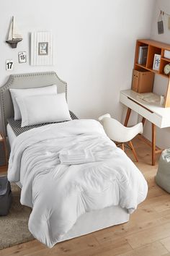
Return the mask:
[[170, 148], [161, 153], [155, 180], [159, 187], [170, 193]]

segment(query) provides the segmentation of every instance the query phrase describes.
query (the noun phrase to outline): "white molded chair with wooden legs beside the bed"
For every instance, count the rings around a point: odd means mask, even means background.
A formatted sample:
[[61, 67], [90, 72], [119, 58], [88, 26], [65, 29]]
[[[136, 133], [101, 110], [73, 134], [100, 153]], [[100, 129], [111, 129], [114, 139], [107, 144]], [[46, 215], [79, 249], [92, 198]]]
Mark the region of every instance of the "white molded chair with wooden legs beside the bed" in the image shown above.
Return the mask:
[[125, 150], [125, 145], [133, 151], [135, 160], [138, 162], [135, 149], [133, 148], [132, 139], [139, 133], [143, 133], [143, 124], [136, 124], [134, 127], [125, 127], [116, 119], [113, 119], [110, 114], [99, 116], [99, 121], [104, 127], [104, 131], [110, 140], [118, 142], [122, 145], [122, 150]]

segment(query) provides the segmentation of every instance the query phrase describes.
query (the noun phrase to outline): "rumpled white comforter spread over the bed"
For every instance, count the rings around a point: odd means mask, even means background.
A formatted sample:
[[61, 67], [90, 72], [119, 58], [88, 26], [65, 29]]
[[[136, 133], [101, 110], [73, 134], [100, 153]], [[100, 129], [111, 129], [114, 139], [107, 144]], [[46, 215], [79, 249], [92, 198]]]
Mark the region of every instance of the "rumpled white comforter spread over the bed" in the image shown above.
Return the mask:
[[19, 135], [8, 179], [21, 182], [21, 203], [32, 207], [30, 232], [48, 247], [81, 214], [111, 205], [132, 213], [148, 191], [143, 174], [94, 120], [50, 124]]

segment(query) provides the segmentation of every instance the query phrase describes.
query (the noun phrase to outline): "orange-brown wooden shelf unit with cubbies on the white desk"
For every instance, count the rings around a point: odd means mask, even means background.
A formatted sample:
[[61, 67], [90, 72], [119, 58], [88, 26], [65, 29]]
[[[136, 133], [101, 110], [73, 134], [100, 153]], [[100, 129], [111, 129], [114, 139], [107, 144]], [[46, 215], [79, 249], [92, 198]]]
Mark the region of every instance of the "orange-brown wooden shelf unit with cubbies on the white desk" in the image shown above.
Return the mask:
[[[139, 47], [140, 46], [148, 46], [148, 55], [146, 59], [146, 64], [141, 65], [138, 64], [138, 54], [139, 54]], [[134, 63], [134, 69], [140, 70], [140, 69], [146, 69], [154, 74], [161, 75], [163, 77], [166, 77], [168, 80], [166, 95], [165, 95], [165, 103], [164, 107], [170, 107], [170, 77], [169, 75], [164, 74], [164, 67], [166, 64], [170, 63], [170, 59], [164, 58], [164, 51], [170, 51], [170, 44], [167, 43], [161, 43], [156, 40], [151, 39], [139, 39], [136, 42], [136, 48], [135, 48], [135, 63]], [[161, 55], [161, 62], [160, 67], [158, 70], [153, 69], [153, 59], [155, 54]]]

